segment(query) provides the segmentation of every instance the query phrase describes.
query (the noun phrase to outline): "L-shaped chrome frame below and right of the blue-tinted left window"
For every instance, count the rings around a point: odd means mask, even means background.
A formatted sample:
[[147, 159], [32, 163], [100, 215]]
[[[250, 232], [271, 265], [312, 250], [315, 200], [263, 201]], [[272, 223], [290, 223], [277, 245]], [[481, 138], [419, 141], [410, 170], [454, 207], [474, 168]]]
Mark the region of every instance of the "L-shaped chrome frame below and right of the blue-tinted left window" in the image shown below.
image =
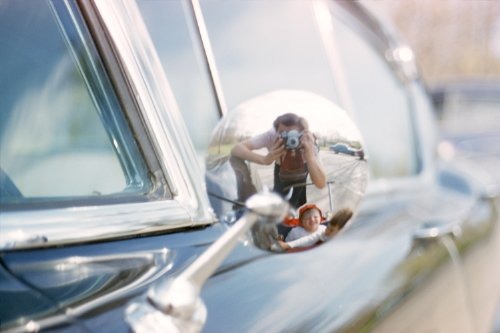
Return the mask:
[[[132, 0], [77, 2], [123, 108], [136, 124], [132, 127], [148, 166], [153, 164], [153, 177], [164, 189], [148, 202], [1, 211], [0, 249], [95, 242], [214, 223], [203, 172], [137, 5]], [[139, 121], [144, 131], [137, 133]]]

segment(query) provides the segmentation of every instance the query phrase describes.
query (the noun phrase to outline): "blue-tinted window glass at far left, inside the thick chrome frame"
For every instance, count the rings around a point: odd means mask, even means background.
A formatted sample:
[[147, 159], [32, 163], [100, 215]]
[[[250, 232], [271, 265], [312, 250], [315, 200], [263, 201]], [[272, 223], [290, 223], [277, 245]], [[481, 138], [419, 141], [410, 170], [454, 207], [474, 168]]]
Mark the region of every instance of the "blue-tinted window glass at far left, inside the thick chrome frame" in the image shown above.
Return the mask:
[[2, 203], [148, 192], [146, 166], [76, 6], [1, 6]]

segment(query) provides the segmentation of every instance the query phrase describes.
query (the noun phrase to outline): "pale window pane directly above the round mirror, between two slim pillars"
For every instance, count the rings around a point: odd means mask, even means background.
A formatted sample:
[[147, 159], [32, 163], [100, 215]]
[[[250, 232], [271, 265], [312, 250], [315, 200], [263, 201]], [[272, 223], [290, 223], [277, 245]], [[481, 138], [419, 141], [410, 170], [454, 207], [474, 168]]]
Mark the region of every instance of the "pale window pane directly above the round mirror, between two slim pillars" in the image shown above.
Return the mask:
[[280, 89], [337, 101], [312, 1], [206, 1], [202, 10], [228, 109]]

